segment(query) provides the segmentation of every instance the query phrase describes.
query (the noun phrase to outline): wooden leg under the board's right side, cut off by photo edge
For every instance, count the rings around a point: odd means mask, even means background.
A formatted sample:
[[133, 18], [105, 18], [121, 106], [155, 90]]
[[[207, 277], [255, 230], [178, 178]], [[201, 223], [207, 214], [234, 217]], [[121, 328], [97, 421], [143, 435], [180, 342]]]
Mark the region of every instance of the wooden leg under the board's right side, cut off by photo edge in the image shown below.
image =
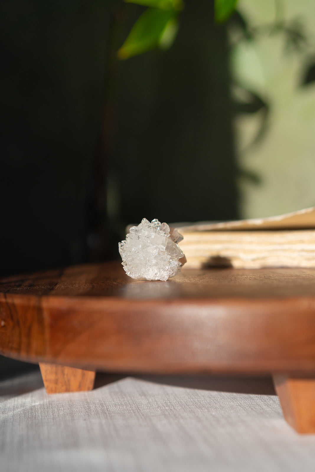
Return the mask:
[[289, 425], [299, 433], [315, 433], [315, 378], [274, 374], [273, 382]]

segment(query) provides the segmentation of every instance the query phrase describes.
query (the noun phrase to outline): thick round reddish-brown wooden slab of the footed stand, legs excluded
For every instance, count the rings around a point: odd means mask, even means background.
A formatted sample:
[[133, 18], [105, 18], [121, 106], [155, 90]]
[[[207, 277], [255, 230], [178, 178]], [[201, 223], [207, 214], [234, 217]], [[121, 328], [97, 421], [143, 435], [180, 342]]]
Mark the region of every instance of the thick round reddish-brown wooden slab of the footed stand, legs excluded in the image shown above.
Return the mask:
[[85, 370], [315, 372], [315, 269], [182, 270], [119, 262], [0, 280], [0, 352]]

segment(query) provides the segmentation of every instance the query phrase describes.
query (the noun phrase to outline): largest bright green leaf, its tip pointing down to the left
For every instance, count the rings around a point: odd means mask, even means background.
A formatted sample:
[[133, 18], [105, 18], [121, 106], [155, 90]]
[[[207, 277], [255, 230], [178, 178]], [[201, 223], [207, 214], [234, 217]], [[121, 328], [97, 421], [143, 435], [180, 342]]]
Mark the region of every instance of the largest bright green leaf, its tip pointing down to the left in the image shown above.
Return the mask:
[[177, 32], [176, 16], [173, 10], [147, 8], [119, 49], [119, 59], [128, 59], [158, 46], [169, 47]]

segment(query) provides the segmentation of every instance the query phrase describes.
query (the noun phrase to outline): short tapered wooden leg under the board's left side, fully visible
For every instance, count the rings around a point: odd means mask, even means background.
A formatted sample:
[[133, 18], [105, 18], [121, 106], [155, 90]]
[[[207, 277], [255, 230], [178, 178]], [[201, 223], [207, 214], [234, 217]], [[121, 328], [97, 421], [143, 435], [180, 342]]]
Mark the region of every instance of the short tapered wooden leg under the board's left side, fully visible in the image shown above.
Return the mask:
[[39, 367], [47, 393], [82, 392], [94, 386], [94, 371], [43, 362]]

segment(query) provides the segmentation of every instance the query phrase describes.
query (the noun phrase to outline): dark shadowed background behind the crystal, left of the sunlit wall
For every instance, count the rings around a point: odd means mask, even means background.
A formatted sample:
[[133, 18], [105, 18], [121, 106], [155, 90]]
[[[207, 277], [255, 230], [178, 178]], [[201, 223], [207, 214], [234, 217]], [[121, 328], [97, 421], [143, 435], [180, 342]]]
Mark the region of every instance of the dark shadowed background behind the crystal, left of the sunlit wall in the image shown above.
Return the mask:
[[170, 50], [119, 61], [142, 11], [0, 3], [1, 276], [116, 258], [144, 217], [238, 217], [226, 25], [187, 0]]

